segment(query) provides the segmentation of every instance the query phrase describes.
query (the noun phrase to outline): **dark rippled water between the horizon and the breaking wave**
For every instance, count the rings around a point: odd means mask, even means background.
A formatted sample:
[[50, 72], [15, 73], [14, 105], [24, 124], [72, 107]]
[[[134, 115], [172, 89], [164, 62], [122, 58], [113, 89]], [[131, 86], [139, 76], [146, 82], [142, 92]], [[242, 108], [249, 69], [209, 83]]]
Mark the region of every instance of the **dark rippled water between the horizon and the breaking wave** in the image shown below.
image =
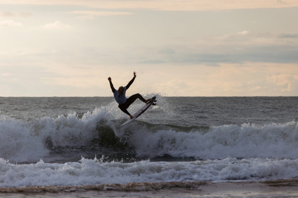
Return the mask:
[[[21, 120], [57, 118], [72, 112], [82, 117], [113, 102], [112, 97], [0, 97], [1, 115]], [[150, 123], [220, 126], [283, 123], [298, 118], [298, 97], [162, 97], [159, 102], [162, 106], [155, 109], [153, 117], [150, 113], [143, 116], [150, 117]], [[133, 106], [131, 112], [139, 105]], [[118, 109], [115, 113], [122, 114]]]

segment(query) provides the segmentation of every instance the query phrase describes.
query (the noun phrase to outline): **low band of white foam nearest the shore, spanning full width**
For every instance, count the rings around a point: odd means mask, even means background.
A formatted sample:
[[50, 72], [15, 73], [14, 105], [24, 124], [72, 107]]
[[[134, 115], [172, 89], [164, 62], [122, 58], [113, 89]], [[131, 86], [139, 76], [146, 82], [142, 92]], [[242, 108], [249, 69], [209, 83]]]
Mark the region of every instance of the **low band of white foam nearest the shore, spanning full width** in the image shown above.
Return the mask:
[[102, 163], [97, 159], [11, 164], [0, 159], [0, 187], [75, 186], [131, 182], [274, 180], [298, 177], [298, 160], [235, 159], [194, 162]]

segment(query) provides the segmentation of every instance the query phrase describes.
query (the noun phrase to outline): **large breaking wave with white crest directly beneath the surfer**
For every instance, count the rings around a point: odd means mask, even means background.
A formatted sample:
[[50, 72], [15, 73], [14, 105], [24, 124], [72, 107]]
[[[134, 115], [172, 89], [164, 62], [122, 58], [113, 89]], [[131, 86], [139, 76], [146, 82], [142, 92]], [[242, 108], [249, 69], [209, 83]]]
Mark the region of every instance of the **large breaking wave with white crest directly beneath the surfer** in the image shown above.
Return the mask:
[[[298, 157], [297, 122], [223, 126], [152, 124], [139, 119], [119, 127], [126, 119], [107, 105], [78, 115], [21, 121], [0, 115], [0, 158], [13, 162], [47, 159], [53, 148], [100, 144], [123, 145], [135, 157], [222, 159]], [[59, 154], [59, 153], [57, 153]], [[67, 160], [67, 159], [65, 159]]]

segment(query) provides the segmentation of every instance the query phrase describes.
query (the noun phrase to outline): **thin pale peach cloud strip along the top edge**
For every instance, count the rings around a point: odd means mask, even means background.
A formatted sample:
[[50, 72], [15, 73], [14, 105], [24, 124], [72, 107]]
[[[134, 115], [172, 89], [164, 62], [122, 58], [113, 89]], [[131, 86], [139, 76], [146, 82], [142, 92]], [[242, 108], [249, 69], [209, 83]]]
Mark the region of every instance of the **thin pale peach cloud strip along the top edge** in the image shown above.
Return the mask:
[[255, 8], [297, 7], [297, 0], [1, 0], [0, 4], [74, 5], [101, 9], [153, 9], [167, 11], [205, 11]]

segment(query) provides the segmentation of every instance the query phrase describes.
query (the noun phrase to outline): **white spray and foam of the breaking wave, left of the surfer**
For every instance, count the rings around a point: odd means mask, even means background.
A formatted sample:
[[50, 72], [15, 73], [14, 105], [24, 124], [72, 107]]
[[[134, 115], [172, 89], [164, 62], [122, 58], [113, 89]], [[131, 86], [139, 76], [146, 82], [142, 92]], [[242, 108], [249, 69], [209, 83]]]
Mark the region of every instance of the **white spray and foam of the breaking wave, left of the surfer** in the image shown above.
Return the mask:
[[57, 118], [44, 117], [21, 121], [0, 116], [0, 157], [18, 162], [33, 162], [49, 154], [48, 146], [84, 146], [98, 138], [97, 124], [112, 123], [106, 107], [84, 113], [73, 112]]

